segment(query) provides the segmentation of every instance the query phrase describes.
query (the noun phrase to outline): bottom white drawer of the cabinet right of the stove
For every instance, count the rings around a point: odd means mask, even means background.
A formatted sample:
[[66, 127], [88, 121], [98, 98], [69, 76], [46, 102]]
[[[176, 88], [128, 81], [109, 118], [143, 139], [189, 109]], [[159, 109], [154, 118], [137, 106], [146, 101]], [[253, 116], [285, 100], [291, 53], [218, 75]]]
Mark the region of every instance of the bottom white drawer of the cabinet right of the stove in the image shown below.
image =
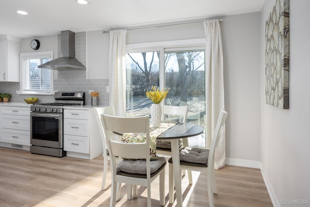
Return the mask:
[[88, 137], [63, 135], [63, 149], [70, 152], [89, 153]]

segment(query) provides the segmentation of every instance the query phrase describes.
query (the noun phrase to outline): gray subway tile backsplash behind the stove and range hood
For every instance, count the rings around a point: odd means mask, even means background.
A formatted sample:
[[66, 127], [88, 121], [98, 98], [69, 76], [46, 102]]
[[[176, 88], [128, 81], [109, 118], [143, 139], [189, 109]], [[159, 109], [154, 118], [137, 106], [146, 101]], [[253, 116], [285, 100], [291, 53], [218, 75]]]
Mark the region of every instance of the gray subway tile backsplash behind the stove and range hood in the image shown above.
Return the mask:
[[[86, 58], [86, 32], [77, 32], [76, 35], [76, 58], [85, 66], [87, 65]], [[58, 54], [60, 52], [60, 35], [58, 36]], [[109, 105], [109, 79], [87, 79], [86, 70], [59, 70], [58, 79], [54, 79], [54, 91], [60, 92], [85, 92], [85, 104], [91, 104], [90, 90], [99, 92], [98, 105]], [[9, 93], [12, 95], [10, 101], [24, 102], [24, 98], [33, 95], [18, 95], [19, 82], [0, 82], [0, 93]], [[54, 102], [53, 95], [36, 95], [39, 102], [48, 103]]]

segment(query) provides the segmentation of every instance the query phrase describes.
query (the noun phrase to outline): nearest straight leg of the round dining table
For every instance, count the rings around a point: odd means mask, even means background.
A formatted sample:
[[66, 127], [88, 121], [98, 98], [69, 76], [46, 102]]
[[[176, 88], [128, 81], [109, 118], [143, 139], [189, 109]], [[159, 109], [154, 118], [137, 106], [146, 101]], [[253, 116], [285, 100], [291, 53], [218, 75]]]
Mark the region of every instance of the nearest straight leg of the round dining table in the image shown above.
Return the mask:
[[177, 207], [182, 207], [181, 169], [178, 139], [171, 139], [171, 154], [173, 160], [173, 175]]

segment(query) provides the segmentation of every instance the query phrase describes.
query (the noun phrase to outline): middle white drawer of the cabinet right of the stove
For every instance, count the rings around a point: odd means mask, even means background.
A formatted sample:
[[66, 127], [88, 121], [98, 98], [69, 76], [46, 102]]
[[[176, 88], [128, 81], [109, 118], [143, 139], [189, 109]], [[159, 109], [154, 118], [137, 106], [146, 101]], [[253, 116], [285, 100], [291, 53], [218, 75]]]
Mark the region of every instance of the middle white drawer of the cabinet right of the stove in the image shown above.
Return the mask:
[[88, 136], [88, 121], [79, 119], [63, 119], [63, 134]]

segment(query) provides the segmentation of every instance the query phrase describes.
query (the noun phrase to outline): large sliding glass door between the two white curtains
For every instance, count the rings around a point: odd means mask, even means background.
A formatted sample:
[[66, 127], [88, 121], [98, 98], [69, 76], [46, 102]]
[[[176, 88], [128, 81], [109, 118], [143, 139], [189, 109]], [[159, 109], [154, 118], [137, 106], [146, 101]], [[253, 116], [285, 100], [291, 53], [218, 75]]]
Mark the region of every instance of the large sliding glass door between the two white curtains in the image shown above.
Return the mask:
[[[152, 86], [169, 88], [165, 105], [188, 105], [187, 123], [204, 128], [205, 50], [203, 47], [135, 49], [126, 54], [126, 116], [150, 114]], [[202, 139], [194, 146], [204, 147]]]

